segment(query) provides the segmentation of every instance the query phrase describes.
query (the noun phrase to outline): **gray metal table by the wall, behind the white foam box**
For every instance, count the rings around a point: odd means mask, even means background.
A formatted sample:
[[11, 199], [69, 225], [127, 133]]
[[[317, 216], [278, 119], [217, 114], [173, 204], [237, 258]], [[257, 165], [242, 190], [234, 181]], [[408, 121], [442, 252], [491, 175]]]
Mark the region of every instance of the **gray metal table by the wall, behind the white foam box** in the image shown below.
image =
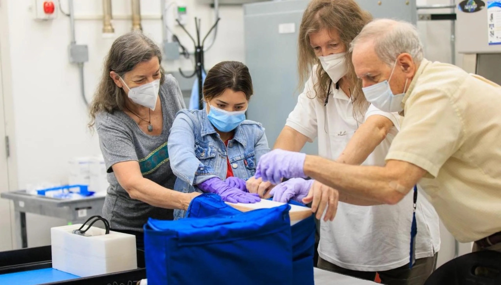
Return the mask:
[[28, 194], [26, 190], [0, 193], [0, 198], [14, 201], [17, 244], [28, 247], [26, 213], [65, 219], [68, 223], [83, 223], [93, 215], [101, 215], [105, 196], [81, 199], [58, 199]]

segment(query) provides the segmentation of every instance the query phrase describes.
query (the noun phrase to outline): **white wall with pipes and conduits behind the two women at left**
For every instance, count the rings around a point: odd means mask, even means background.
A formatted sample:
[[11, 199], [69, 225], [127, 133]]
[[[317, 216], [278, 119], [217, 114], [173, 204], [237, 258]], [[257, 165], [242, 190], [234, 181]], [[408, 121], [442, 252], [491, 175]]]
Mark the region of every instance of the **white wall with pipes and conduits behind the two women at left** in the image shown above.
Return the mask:
[[[68, 11], [67, 1], [61, 0]], [[68, 60], [70, 43], [69, 18], [59, 14], [53, 21], [33, 20], [29, 6], [32, 1], [10, 0], [9, 42], [12, 70], [12, 98], [15, 122], [15, 152], [17, 155], [17, 184], [20, 188], [39, 181], [64, 182], [67, 162], [74, 156], [100, 153], [97, 135], [91, 136], [86, 127], [87, 109], [80, 96], [78, 69]], [[56, 2], [57, 3], [57, 2]], [[101, 0], [75, 0], [77, 19], [102, 15]], [[194, 33], [191, 20], [202, 21], [202, 34], [213, 23], [213, 12], [208, 6], [186, 1], [187, 29]], [[113, 15], [130, 15], [130, 1], [113, 1]], [[145, 18], [160, 19], [160, 0], [141, 0], [141, 14]], [[222, 60], [243, 61], [243, 13], [241, 7], [221, 7], [218, 38], [205, 54], [206, 68]], [[89, 62], [85, 64], [86, 96], [90, 100], [101, 75], [103, 59], [113, 40], [131, 30], [131, 21], [115, 20], [115, 37], [102, 37], [101, 20], [77, 20], [76, 40], [89, 46]], [[162, 22], [144, 20], [143, 31], [161, 45]], [[180, 28], [173, 28], [181, 43], [193, 50]], [[207, 40], [208, 41], [208, 40]], [[167, 71], [193, 70], [190, 60], [164, 62]], [[14, 190], [14, 189], [11, 189]], [[27, 215], [29, 246], [50, 243], [48, 228], [62, 225], [64, 220], [38, 215]]]

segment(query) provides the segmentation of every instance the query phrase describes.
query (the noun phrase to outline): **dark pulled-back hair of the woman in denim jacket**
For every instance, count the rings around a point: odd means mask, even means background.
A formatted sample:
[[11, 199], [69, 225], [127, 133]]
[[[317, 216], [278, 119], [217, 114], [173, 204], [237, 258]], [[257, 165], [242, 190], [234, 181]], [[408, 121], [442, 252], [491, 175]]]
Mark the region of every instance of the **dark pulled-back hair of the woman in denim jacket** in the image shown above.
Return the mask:
[[248, 68], [241, 62], [223, 61], [207, 73], [203, 83], [203, 99], [208, 102], [221, 96], [226, 89], [241, 91], [247, 100], [253, 94], [252, 79]]

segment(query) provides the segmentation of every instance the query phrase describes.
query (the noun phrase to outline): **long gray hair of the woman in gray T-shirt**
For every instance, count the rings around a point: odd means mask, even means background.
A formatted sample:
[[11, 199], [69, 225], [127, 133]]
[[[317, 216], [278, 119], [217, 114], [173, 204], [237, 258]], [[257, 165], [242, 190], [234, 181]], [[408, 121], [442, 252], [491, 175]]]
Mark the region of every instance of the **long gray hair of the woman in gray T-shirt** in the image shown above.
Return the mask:
[[141, 31], [133, 31], [118, 37], [113, 42], [104, 61], [103, 74], [90, 106], [90, 128], [94, 126], [99, 112], [112, 113], [115, 110], [124, 109], [125, 92], [115, 84], [110, 77], [110, 72], [114, 71], [123, 78], [124, 74], [133, 70], [136, 65], [154, 57], [157, 57], [160, 63], [160, 84], [163, 84], [165, 71], [161, 65], [162, 52], [150, 38]]

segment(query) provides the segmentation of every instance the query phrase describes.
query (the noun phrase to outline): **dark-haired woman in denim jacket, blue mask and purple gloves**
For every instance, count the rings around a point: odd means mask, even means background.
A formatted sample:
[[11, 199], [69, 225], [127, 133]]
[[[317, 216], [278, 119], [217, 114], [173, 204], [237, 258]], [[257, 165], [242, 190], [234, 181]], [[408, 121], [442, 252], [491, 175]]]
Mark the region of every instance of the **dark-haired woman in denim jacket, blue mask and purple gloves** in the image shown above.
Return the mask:
[[[181, 110], [170, 129], [168, 151], [177, 176], [174, 190], [216, 193], [224, 201], [254, 203], [245, 180], [253, 177], [260, 157], [269, 152], [265, 129], [245, 120], [252, 80], [240, 62], [221, 62], [207, 73], [203, 110]], [[185, 211], [175, 210], [174, 219]]]

